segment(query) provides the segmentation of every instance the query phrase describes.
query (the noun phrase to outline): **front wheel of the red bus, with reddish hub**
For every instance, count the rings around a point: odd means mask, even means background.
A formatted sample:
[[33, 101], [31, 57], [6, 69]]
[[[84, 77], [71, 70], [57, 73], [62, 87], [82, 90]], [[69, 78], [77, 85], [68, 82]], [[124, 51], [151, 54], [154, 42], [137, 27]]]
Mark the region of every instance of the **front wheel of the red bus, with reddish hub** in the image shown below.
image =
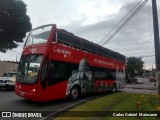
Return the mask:
[[69, 94], [70, 100], [76, 100], [79, 97], [79, 94], [79, 89], [77, 87], [73, 87]]

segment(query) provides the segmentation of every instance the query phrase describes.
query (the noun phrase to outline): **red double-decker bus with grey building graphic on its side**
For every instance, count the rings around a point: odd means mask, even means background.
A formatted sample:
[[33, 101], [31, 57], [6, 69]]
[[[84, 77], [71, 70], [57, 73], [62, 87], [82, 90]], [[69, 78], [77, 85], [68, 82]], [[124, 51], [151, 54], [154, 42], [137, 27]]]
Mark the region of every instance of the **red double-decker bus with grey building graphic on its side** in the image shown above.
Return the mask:
[[15, 93], [33, 101], [74, 100], [124, 86], [125, 56], [50, 24], [30, 31]]

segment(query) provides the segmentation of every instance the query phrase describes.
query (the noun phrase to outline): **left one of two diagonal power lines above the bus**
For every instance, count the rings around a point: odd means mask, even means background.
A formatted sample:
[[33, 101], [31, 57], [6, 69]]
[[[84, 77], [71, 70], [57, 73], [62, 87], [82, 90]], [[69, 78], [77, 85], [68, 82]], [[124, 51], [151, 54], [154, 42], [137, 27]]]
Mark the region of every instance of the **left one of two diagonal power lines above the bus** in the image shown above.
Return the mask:
[[99, 44], [101, 44], [106, 38], [107, 36], [109, 36], [120, 24], [123, 20], [126, 19], [126, 17], [140, 4], [141, 1], [139, 1], [122, 19], [121, 21], [99, 42]]

